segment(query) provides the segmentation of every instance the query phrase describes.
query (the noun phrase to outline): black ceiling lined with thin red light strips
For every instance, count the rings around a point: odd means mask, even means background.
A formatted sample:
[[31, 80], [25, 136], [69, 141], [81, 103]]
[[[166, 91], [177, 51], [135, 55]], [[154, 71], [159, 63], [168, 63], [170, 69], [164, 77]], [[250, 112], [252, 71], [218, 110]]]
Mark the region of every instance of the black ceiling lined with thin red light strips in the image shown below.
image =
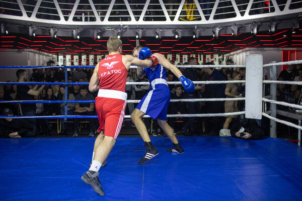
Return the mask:
[[[193, 40], [192, 36], [182, 36], [176, 40], [173, 37], [144, 37], [140, 45], [149, 47], [153, 52], [162, 54], [222, 54], [238, 51], [244, 48], [299, 48], [302, 46], [302, 30], [292, 34], [292, 29], [277, 30], [275, 33], [259, 32], [256, 36], [251, 33], [232, 35], [200, 36]], [[51, 54], [102, 54], [107, 52], [108, 38], [96, 40], [93, 37], [74, 40], [72, 37], [36, 36], [9, 34], [0, 36], [0, 49], [35, 49]], [[123, 53], [131, 54], [136, 46], [135, 37], [122, 37]]]

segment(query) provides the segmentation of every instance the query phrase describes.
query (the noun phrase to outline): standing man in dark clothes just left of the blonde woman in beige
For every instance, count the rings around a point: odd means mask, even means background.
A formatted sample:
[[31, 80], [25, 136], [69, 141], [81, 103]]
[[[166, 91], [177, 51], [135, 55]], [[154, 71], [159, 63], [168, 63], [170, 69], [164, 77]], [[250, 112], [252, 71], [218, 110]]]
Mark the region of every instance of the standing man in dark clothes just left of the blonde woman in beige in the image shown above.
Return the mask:
[[[211, 65], [211, 62], [205, 63], [205, 65]], [[224, 80], [223, 75], [219, 73], [218, 70], [214, 68], [203, 68], [203, 70], [208, 73], [205, 80], [207, 81], [218, 81]], [[204, 89], [205, 98], [223, 98], [225, 91], [225, 84], [207, 84]], [[205, 102], [205, 113], [222, 113], [223, 112], [223, 102], [222, 101], [209, 101]], [[212, 125], [211, 122], [212, 121]], [[206, 119], [205, 129], [206, 132], [210, 134], [217, 135], [219, 133], [219, 128], [222, 128], [222, 118], [221, 117], [210, 117]]]

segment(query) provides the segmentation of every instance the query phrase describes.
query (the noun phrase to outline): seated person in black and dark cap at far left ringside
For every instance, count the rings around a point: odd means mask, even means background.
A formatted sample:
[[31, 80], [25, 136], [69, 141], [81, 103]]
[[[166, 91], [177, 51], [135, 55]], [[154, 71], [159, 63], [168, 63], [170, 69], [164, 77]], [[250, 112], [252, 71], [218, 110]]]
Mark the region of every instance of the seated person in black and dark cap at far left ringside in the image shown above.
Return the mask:
[[[10, 108], [4, 108], [2, 115], [13, 116]], [[34, 137], [34, 126], [27, 119], [0, 119], [1, 138]]]

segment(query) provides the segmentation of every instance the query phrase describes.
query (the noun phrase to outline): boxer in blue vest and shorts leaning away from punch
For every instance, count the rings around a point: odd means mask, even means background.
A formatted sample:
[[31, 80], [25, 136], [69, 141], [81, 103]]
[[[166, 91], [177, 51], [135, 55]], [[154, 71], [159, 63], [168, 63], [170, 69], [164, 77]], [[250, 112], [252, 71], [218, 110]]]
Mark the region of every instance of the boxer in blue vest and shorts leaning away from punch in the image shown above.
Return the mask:
[[158, 150], [153, 146], [147, 129], [141, 120], [144, 115], [157, 119], [160, 127], [172, 141], [174, 148], [167, 149], [167, 151], [184, 153], [184, 150], [179, 145], [172, 128], [166, 121], [167, 109], [170, 102], [170, 89], [166, 80], [165, 68], [171, 70], [179, 78], [186, 91], [193, 92], [195, 89], [194, 83], [185, 78], [181, 71], [176, 66], [171, 64], [162, 54], [155, 53], [152, 55], [149, 48], [142, 46], [135, 47], [132, 54], [134, 57], [139, 59], [147, 59], [150, 56], [155, 56], [158, 58], [158, 65], [155, 67], [137, 67], [137, 76], [141, 77], [144, 73], [146, 73], [151, 84], [149, 92], [140, 100], [139, 104], [131, 114], [132, 122], [143, 139], [144, 146], [146, 147], [145, 155], [138, 161], [138, 164], [146, 162], [159, 153]]

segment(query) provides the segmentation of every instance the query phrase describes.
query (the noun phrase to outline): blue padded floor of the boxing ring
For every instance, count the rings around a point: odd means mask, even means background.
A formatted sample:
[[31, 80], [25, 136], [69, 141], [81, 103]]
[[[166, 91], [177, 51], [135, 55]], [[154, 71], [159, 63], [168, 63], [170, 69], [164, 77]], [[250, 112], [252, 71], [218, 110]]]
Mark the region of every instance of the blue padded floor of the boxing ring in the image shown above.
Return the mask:
[[301, 200], [302, 150], [282, 139], [178, 137], [138, 165], [141, 138], [121, 137], [100, 170], [105, 196], [81, 180], [95, 138], [0, 139], [0, 200]]

